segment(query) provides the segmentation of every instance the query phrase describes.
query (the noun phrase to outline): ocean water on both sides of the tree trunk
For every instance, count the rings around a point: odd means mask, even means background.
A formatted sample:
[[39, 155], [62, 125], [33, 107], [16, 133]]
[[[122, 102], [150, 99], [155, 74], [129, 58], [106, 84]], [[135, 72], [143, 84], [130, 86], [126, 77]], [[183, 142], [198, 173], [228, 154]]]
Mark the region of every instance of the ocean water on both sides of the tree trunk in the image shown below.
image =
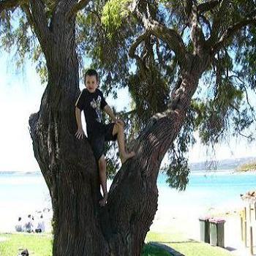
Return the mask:
[[[158, 209], [167, 214], [192, 211], [205, 214], [211, 208], [241, 205], [240, 194], [256, 189], [256, 173], [192, 172], [184, 192], [172, 189], [159, 173]], [[108, 189], [112, 181], [108, 181]], [[18, 216], [50, 208], [48, 187], [41, 173], [0, 172], [0, 232], [13, 230]]]

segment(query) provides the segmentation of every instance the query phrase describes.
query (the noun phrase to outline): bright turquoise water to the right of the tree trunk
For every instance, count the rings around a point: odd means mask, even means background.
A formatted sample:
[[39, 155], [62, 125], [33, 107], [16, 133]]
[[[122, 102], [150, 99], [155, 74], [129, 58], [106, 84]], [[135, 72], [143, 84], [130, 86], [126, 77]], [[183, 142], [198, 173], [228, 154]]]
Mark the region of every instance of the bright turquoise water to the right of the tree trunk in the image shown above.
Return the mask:
[[192, 172], [185, 192], [167, 189], [165, 179], [166, 175], [162, 173], [157, 181], [159, 191], [165, 192], [165, 196], [160, 198], [163, 203], [174, 200], [176, 204], [187, 203], [198, 207], [238, 203], [241, 201], [240, 194], [256, 189], [256, 173]]

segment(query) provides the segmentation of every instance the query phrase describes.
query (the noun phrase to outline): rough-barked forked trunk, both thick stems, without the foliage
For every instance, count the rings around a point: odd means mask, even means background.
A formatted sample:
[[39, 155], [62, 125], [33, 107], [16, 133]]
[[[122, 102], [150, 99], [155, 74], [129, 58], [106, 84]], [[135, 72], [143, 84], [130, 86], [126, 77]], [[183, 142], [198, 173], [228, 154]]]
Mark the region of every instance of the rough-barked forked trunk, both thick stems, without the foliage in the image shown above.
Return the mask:
[[[64, 12], [63, 12], [64, 13]], [[53, 255], [140, 255], [157, 211], [157, 176], [167, 149], [184, 123], [199, 72], [184, 75], [181, 109], [158, 113], [148, 122], [129, 159], [110, 187], [108, 205], [99, 208], [99, 172], [86, 139], [75, 138], [75, 101], [80, 94], [75, 21], [55, 19], [42, 49], [48, 86], [39, 112], [29, 118], [34, 156], [53, 206]]]

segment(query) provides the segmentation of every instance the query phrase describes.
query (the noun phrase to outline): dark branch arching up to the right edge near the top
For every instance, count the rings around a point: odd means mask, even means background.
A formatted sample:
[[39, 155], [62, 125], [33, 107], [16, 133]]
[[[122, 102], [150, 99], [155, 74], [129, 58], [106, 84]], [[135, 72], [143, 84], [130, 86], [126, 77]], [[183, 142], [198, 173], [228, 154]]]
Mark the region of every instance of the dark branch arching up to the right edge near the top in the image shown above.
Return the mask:
[[234, 34], [236, 34], [236, 31], [243, 28], [244, 26], [247, 26], [249, 24], [256, 24], [256, 16], [254, 18], [245, 18], [244, 20], [241, 20], [238, 23], [235, 23], [233, 26], [229, 26], [226, 31], [222, 34], [222, 37], [220, 37], [219, 41], [216, 42], [212, 48], [211, 53], [215, 54], [217, 51], [219, 51], [221, 48], [225, 46], [228, 39], [233, 37]]

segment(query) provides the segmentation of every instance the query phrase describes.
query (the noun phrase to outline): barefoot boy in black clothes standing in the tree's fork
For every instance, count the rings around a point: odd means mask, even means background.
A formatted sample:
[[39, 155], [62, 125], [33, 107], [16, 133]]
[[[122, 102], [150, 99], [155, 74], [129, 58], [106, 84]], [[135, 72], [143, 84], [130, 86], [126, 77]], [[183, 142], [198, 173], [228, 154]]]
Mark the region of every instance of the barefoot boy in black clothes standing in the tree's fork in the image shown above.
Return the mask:
[[[78, 124], [78, 131], [75, 136], [83, 138], [84, 132], [81, 123], [81, 111], [86, 118], [86, 128], [89, 143], [91, 144], [94, 157], [99, 165], [99, 179], [102, 185], [103, 198], [99, 200], [100, 206], [105, 206], [108, 200], [107, 177], [106, 177], [106, 162], [105, 162], [105, 141], [118, 140], [120, 158], [122, 164], [127, 159], [135, 156], [135, 152], [127, 153], [124, 149], [124, 123], [118, 120], [114, 115], [108, 103], [103, 97], [102, 91], [97, 89], [99, 85], [98, 74], [94, 69], [86, 71], [85, 77], [86, 89], [81, 91], [77, 102], [75, 102], [75, 117]], [[110, 124], [102, 123], [102, 111], [108, 113], [108, 116], [113, 120]]]

